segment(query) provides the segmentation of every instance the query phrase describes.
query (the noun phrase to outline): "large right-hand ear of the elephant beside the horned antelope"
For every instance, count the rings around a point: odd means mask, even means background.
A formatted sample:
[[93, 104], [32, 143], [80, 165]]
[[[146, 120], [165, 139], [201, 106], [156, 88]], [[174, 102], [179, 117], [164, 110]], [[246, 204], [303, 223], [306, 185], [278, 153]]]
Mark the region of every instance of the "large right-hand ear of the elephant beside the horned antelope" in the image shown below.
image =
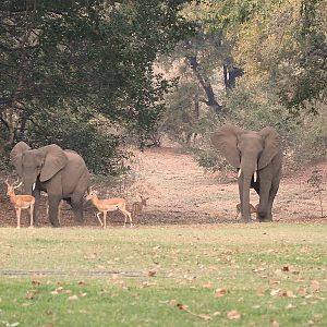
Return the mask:
[[66, 165], [68, 157], [63, 149], [56, 144], [45, 146], [41, 150], [46, 153], [46, 159], [40, 171], [39, 180], [45, 182], [51, 179]]

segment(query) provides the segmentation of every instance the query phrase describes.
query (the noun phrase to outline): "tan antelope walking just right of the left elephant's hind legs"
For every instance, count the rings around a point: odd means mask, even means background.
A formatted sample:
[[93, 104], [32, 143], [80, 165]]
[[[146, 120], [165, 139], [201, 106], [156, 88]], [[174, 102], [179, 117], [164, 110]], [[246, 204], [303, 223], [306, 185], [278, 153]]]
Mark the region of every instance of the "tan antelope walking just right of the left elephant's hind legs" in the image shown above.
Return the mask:
[[[126, 226], [128, 217], [130, 219], [131, 227], [133, 226], [132, 223], [132, 215], [130, 211], [126, 210], [126, 201], [121, 197], [112, 197], [112, 198], [105, 198], [105, 199], [99, 199], [98, 196], [94, 191], [89, 191], [89, 193], [86, 196], [86, 199], [90, 199], [95, 207], [98, 209], [97, 213], [97, 218], [101, 225], [101, 227], [106, 228], [107, 227], [107, 213], [112, 213], [116, 210], [119, 210], [124, 215], [124, 227]], [[100, 214], [104, 214], [104, 222], [100, 219]], [[105, 226], [104, 226], [105, 225]]]

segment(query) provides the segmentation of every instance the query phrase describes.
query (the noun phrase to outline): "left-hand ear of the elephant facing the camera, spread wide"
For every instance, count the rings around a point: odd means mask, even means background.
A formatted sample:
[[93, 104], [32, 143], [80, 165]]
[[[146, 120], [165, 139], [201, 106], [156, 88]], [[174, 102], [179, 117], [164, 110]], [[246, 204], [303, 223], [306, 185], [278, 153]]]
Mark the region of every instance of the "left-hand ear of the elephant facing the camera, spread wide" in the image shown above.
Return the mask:
[[238, 126], [226, 124], [211, 134], [211, 143], [219, 149], [226, 159], [235, 168], [240, 168], [240, 153], [238, 136], [244, 131]]

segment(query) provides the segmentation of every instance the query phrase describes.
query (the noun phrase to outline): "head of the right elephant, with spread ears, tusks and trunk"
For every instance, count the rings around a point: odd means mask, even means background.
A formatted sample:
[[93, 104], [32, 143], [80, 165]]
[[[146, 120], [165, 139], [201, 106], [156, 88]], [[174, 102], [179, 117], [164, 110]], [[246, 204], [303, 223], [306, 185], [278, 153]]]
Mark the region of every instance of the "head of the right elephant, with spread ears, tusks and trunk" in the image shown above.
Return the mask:
[[213, 133], [211, 142], [229, 164], [239, 170], [242, 217], [250, 220], [250, 186], [256, 185], [258, 192], [257, 177], [261, 178], [261, 171], [271, 164], [281, 149], [279, 134], [271, 128], [253, 132], [227, 124]]

